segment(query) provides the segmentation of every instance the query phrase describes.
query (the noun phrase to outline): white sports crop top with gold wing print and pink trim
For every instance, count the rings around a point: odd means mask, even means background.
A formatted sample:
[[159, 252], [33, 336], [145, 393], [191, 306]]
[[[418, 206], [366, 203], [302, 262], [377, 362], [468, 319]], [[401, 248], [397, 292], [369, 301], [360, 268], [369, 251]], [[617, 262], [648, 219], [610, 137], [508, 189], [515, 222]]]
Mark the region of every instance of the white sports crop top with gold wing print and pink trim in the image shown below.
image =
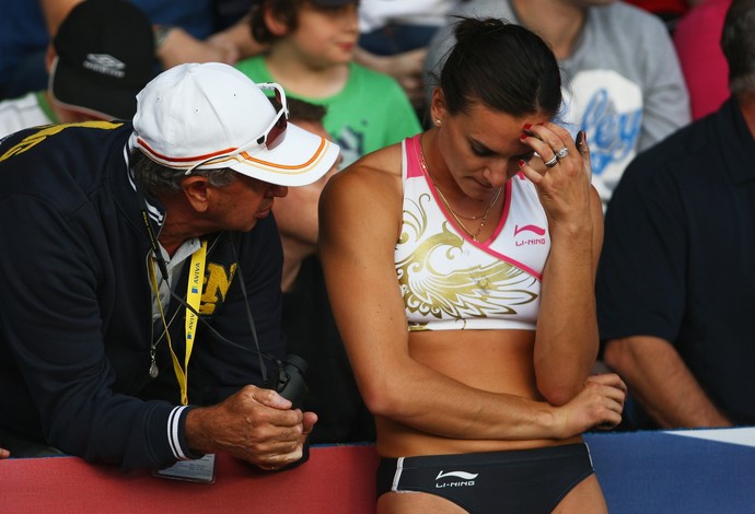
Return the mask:
[[490, 240], [457, 230], [420, 165], [419, 135], [403, 142], [404, 215], [395, 265], [409, 330], [527, 329], [537, 322], [550, 250], [545, 211], [521, 173], [506, 183]]

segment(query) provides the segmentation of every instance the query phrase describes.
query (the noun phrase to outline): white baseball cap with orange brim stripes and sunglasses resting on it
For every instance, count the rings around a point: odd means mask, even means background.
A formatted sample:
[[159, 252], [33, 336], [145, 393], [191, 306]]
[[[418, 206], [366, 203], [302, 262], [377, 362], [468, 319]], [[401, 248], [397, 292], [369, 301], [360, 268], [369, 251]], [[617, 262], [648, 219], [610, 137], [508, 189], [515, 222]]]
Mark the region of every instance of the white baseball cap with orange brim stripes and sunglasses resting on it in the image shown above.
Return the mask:
[[[276, 92], [278, 110], [263, 90]], [[187, 175], [230, 167], [280, 186], [316, 182], [339, 151], [288, 122], [279, 84], [255, 84], [220, 62], [178, 65], [149, 82], [137, 95], [131, 144]]]

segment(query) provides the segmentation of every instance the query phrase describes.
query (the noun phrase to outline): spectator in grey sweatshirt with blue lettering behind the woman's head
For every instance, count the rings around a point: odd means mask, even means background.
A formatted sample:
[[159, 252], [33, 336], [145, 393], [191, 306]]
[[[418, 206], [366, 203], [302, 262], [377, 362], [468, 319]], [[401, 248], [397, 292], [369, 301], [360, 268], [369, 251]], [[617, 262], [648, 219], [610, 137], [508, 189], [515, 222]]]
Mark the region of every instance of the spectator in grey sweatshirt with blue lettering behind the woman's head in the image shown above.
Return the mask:
[[[690, 120], [671, 37], [644, 11], [614, 0], [473, 0], [456, 13], [511, 20], [551, 45], [565, 74], [558, 117], [572, 137], [586, 132], [604, 207], [636, 153]], [[430, 78], [452, 44], [449, 27], [434, 36], [426, 65]]]

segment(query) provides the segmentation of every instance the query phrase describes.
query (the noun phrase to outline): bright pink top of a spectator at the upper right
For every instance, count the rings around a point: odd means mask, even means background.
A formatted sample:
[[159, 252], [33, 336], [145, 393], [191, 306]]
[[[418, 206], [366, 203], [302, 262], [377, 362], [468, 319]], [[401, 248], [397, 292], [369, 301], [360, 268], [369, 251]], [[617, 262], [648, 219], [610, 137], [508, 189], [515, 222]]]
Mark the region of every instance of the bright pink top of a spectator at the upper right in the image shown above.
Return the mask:
[[729, 97], [729, 65], [720, 45], [729, 5], [731, 0], [702, 0], [680, 20], [674, 31], [693, 119], [718, 110]]

